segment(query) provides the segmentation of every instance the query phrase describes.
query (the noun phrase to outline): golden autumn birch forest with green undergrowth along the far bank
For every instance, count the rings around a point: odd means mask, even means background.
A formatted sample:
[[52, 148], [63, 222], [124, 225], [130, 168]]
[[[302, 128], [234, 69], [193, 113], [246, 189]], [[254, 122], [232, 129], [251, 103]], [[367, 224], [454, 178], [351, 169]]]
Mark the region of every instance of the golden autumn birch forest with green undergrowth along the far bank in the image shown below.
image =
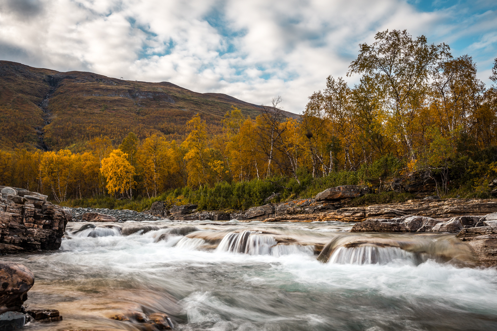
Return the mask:
[[[161, 133], [119, 143], [96, 135], [70, 149], [0, 151], [0, 185], [72, 206], [142, 210], [154, 200], [201, 209], [246, 209], [308, 198], [327, 187], [423, 173], [443, 197], [491, 197], [497, 176], [497, 87], [477, 78], [469, 55], [453, 57], [407, 31], [378, 32], [344, 77], [329, 76], [300, 119], [275, 97], [254, 118], [233, 106], [222, 132], [200, 114], [183, 141]], [[349, 86], [346, 78], [359, 78]], [[497, 59], [490, 79], [497, 82]], [[376, 192], [380, 193], [380, 192]], [[391, 198], [391, 196], [390, 196]]]

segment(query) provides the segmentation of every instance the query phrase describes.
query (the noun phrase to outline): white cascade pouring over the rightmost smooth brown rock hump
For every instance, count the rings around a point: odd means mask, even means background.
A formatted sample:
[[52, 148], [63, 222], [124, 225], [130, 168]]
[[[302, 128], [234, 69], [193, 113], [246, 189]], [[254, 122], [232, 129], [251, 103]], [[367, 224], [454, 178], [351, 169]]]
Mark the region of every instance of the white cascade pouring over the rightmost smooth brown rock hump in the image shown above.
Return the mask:
[[351, 265], [385, 265], [394, 260], [403, 260], [419, 265], [427, 259], [421, 254], [407, 252], [399, 247], [337, 247], [331, 254], [329, 263]]

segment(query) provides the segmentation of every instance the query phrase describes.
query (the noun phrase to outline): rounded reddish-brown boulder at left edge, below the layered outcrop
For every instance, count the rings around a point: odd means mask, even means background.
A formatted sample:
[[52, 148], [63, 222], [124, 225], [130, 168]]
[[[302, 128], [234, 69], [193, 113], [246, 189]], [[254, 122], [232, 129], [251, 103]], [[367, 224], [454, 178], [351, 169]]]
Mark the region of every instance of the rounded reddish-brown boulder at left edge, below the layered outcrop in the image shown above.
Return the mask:
[[34, 275], [24, 265], [0, 262], [0, 284], [0, 313], [20, 311], [34, 284]]

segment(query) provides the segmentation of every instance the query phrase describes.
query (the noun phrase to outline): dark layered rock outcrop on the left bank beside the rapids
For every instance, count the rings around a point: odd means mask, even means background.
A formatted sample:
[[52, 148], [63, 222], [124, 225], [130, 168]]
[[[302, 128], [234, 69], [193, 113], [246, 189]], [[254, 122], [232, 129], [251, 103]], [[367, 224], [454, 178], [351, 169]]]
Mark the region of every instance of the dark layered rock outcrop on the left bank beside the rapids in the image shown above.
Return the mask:
[[23, 189], [0, 186], [0, 252], [56, 250], [70, 209], [54, 205], [47, 196]]

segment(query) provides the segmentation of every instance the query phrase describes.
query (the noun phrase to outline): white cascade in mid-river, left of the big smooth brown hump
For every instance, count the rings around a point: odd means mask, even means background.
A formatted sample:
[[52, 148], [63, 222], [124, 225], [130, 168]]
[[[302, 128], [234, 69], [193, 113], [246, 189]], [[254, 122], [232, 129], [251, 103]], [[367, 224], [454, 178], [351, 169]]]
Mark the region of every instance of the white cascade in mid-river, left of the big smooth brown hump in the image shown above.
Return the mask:
[[314, 246], [278, 245], [278, 242], [261, 231], [245, 230], [228, 233], [219, 243], [216, 251], [249, 255], [273, 255], [306, 253], [312, 255]]

